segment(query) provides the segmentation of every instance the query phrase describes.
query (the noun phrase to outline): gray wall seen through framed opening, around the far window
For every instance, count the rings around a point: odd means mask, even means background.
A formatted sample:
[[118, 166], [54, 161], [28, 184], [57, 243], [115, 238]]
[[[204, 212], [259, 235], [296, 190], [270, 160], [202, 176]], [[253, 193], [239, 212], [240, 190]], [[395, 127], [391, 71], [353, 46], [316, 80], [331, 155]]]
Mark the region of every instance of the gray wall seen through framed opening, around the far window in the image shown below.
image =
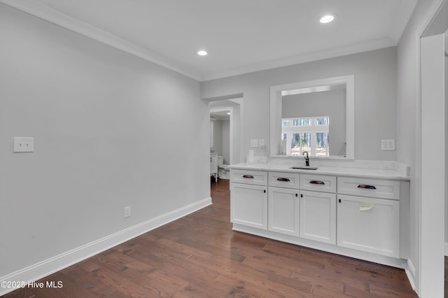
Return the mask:
[[283, 96], [281, 118], [329, 116], [330, 155], [346, 155], [345, 101], [344, 89]]

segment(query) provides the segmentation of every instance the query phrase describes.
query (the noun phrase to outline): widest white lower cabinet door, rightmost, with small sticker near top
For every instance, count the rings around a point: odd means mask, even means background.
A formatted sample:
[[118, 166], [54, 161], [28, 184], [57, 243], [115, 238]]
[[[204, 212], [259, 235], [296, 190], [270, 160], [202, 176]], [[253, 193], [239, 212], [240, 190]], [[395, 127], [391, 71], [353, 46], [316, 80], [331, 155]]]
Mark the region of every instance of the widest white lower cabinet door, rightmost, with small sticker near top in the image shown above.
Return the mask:
[[400, 256], [400, 201], [337, 195], [337, 245]]

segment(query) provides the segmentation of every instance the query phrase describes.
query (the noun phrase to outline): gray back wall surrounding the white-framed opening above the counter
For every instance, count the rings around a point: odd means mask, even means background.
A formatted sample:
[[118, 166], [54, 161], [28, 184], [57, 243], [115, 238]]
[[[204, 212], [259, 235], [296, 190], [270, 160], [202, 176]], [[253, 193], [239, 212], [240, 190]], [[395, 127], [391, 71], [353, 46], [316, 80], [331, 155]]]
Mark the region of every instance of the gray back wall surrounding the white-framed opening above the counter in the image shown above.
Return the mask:
[[251, 139], [265, 139], [269, 146], [270, 86], [352, 74], [355, 76], [355, 157], [395, 160], [395, 151], [381, 151], [381, 139], [396, 138], [396, 48], [209, 80], [201, 83], [201, 96], [244, 93], [242, 150], [247, 152]]

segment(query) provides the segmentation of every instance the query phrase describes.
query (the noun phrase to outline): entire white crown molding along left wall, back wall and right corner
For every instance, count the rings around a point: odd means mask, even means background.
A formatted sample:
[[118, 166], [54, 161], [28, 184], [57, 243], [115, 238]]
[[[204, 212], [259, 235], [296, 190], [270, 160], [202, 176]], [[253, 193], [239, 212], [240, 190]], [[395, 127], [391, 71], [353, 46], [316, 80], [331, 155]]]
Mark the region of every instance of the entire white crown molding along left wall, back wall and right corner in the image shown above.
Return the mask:
[[[417, 0], [409, 0], [409, 1], [416, 2]], [[157, 55], [149, 50], [146, 50], [145, 48], [141, 48], [139, 45], [135, 45], [130, 41], [126, 41], [123, 38], [120, 38], [116, 35], [103, 31], [102, 29], [87, 24], [86, 22], [82, 22], [74, 17], [71, 17], [69, 15], [60, 12], [59, 10], [55, 10], [54, 8], [50, 8], [49, 6], [45, 6], [43, 3], [39, 1], [0, 0], [0, 3], [4, 3], [13, 8], [17, 8], [19, 10], [24, 11], [25, 13], [29, 13], [30, 15], [34, 15], [43, 20], [51, 22], [52, 24], [56, 24], [57, 26], [64, 27], [78, 34], [82, 34], [83, 36], [92, 38], [95, 41], [99, 41], [106, 45], [110, 45], [113, 48], [123, 50], [124, 52], [127, 52], [131, 55], [140, 57], [141, 59], [145, 59], [148, 62], [153, 62], [154, 64], [158, 64], [162, 67], [165, 67], [166, 69], [175, 71], [176, 73], [181, 73], [184, 76], [188, 76], [189, 78], [193, 78], [194, 80], [200, 82], [207, 80], [215, 80], [218, 78], [227, 78], [230, 76], [239, 76], [245, 73], [253, 73], [255, 71], [276, 69], [283, 66], [312, 62], [321, 59], [351, 55], [358, 52], [377, 50], [379, 48], [388, 48], [398, 44], [398, 40], [400, 39], [402, 31], [405, 29], [405, 26], [407, 24], [407, 22], [405, 22], [404, 17], [400, 20], [397, 20], [396, 22], [400, 24], [400, 26], [395, 26], [396, 29], [393, 32], [391, 32], [390, 37], [379, 38], [374, 41], [367, 41], [365, 43], [356, 43], [352, 45], [346, 45], [340, 48], [332, 48], [329, 50], [309, 52], [304, 53], [302, 55], [297, 55], [295, 57], [277, 59], [274, 61], [262, 62], [260, 64], [252, 64], [244, 67], [239, 67], [236, 69], [228, 69], [225, 71], [218, 71], [215, 73], [204, 73], [201, 75], [196, 71], [192, 71], [191, 69], [179, 66], [179, 64], [175, 64], [174, 62], [169, 61], [169, 59], [165, 57], [161, 57], [160, 55]], [[409, 14], [411, 14], [414, 9], [414, 6], [412, 6], [411, 9], [409, 8], [409, 6], [404, 6], [402, 3], [400, 3], [400, 8], [402, 7], [403, 8], [407, 7], [408, 8], [407, 13]]]

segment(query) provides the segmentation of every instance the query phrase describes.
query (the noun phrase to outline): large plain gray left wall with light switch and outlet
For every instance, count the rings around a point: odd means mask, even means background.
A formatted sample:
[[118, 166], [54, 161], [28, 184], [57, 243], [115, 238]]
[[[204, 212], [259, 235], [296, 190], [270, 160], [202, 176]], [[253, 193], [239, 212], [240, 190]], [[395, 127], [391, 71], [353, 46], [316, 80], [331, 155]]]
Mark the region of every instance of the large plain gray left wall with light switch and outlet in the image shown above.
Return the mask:
[[0, 36], [0, 276], [210, 196], [197, 81], [3, 3]]

